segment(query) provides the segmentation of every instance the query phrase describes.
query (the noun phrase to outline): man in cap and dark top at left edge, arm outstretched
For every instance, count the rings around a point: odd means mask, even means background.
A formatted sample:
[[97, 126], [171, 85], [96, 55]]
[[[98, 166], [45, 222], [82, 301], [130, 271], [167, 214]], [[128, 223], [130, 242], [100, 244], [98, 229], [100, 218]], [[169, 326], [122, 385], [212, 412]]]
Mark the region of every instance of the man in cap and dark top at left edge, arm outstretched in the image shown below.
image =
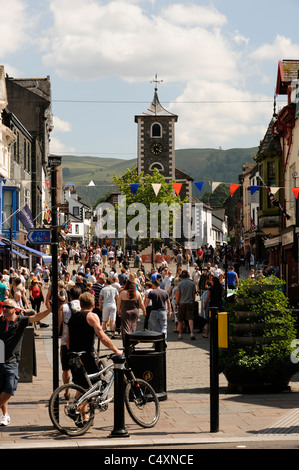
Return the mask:
[[51, 311], [36, 313], [30, 317], [16, 314], [17, 304], [14, 299], [5, 299], [0, 316], [0, 425], [10, 424], [8, 401], [14, 395], [18, 385], [18, 364], [24, 330], [27, 326], [39, 322]]

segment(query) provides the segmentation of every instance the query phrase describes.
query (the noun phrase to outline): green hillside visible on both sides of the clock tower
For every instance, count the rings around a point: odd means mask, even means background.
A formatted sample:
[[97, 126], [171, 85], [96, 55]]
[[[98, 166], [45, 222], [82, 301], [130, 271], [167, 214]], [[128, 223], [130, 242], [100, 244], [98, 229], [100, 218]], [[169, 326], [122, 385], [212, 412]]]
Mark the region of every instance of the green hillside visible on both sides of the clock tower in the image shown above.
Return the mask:
[[[202, 191], [194, 186], [194, 196], [200, 198], [210, 190], [213, 181], [238, 183], [242, 165], [252, 162], [257, 148], [246, 149], [180, 149], [176, 150], [176, 167], [189, 174], [195, 182], [203, 181]], [[136, 159], [77, 157], [62, 158], [63, 183], [74, 183], [82, 201], [93, 205], [113, 190], [113, 175], [122, 175], [136, 165]], [[88, 186], [93, 181], [96, 186]]]

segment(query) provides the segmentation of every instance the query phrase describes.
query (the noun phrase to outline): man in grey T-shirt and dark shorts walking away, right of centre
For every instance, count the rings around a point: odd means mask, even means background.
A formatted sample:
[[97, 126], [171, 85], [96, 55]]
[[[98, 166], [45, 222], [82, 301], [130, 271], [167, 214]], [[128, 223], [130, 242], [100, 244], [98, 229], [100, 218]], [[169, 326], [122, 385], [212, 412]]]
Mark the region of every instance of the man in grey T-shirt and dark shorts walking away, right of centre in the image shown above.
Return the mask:
[[188, 271], [184, 270], [181, 274], [181, 281], [175, 292], [175, 307], [178, 309], [179, 334], [178, 339], [182, 337], [182, 325], [188, 321], [190, 329], [190, 338], [195, 340], [194, 330], [194, 302], [196, 288], [194, 282], [189, 278]]

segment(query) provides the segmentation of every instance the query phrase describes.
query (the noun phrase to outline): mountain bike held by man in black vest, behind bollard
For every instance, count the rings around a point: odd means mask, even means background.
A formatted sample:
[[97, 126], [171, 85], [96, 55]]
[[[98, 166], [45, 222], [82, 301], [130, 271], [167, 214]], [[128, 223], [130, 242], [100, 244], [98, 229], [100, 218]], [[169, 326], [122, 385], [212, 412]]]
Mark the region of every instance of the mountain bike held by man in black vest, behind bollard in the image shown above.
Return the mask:
[[[131, 346], [130, 349], [134, 348]], [[68, 436], [82, 436], [93, 425], [95, 411], [108, 409], [113, 400], [114, 354], [98, 358], [99, 372], [87, 374], [81, 360], [84, 351], [72, 353], [73, 364], [82, 368], [89, 388], [86, 390], [73, 383], [64, 384], [52, 393], [49, 400], [49, 415], [54, 427]], [[95, 383], [92, 381], [95, 380]], [[141, 427], [155, 426], [160, 417], [160, 403], [152, 386], [143, 379], [135, 377], [128, 367], [124, 367], [124, 402], [133, 421]]]

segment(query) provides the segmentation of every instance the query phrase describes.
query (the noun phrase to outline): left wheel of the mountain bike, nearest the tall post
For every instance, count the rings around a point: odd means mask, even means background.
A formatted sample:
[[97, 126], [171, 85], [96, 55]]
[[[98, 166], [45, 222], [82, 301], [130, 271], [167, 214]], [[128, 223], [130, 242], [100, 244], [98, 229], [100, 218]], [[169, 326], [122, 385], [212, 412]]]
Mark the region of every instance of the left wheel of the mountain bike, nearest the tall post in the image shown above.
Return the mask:
[[79, 407], [77, 401], [85, 393], [83, 387], [65, 384], [52, 393], [49, 401], [50, 419], [58, 431], [68, 436], [82, 436], [93, 424], [94, 407], [85, 400]]

